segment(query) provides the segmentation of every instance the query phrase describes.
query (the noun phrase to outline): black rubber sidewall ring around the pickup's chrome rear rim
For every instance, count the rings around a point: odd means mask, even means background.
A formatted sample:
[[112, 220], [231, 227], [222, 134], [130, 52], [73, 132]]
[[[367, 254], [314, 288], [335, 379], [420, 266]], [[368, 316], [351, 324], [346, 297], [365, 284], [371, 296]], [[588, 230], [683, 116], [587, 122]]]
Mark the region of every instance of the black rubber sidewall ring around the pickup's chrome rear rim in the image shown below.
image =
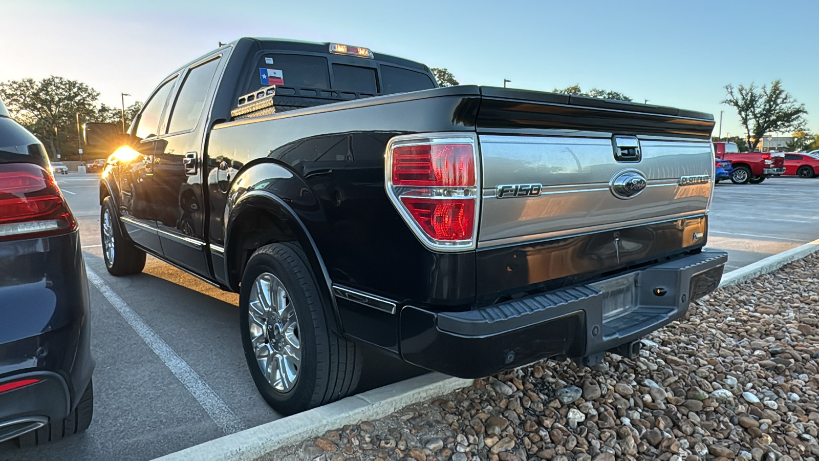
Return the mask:
[[[251, 372], [251, 377], [256, 383], [256, 388], [259, 390], [262, 397], [267, 403], [276, 409], [279, 413], [292, 414], [299, 409], [305, 409], [313, 406], [312, 402], [315, 400], [314, 394], [316, 390], [316, 382], [319, 378], [319, 369], [316, 366], [319, 362], [319, 343], [327, 344], [327, 339], [322, 341], [317, 340], [317, 336], [327, 331], [326, 323], [324, 322], [322, 306], [312, 304], [321, 303], [319, 290], [317, 290], [311, 272], [305, 267], [304, 262], [300, 256], [292, 249], [286, 249], [283, 245], [276, 245], [274, 251], [266, 251], [268, 247], [257, 251], [251, 256], [247, 262], [247, 269], [242, 275], [242, 285], [239, 291], [239, 319], [240, 329], [242, 333], [242, 349], [245, 352], [247, 359], [247, 367]], [[300, 264], [303, 271], [302, 275], [308, 276], [307, 281], [296, 277], [293, 274], [293, 267], [282, 261], [283, 255], [292, 253], [296, 264]], [[274, 256], [274, 254], [276, 256]], [[296, 383], [291, 390], [287, 392], [279, 392], [267, 381], [262, 374], [258, 363], [256, 363], [256, 354], [253, 351], [249, 331], [249, 314], [248, 308], [250, 304], [251, 287], [256, 281], [256, 277], [261, 274], [269, 272], [278, 277], [290, 295], [293, 308], [296, 312], [296, 318], [299, 322], [299, 333], [301, 343], [301, 368], [299, 369]], [[309, 282], [309, 283], [305, 283]], [[309, 286], [305, 286], [309, 285]], [[316, 316], [311, 311], [319, 309], [319, 315]], [[325, 333], [326, 335], [326, 333]], [[319, 395], [319, 399], [321, 396]]]

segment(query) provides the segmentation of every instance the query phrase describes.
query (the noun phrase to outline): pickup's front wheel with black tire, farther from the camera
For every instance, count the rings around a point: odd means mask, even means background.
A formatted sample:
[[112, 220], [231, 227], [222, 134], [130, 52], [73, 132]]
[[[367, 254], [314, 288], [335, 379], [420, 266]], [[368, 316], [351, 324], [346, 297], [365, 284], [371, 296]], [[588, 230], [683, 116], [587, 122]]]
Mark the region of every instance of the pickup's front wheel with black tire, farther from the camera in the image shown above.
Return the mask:
[[145, 252], [138, 249], [122, 232], [120, 219], [111, 197], [102, 201], [100, 211], [100, 237], [102, 258], [112, 276], [130, 276], [143, 272]]

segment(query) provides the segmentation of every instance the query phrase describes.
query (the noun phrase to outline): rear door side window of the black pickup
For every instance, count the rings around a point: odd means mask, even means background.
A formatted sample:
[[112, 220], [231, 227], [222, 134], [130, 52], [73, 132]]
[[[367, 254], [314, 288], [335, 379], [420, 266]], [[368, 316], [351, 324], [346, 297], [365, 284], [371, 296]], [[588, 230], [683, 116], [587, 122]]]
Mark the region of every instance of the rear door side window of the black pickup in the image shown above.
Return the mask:
[[192, 130], [197, 126], [202, 109], [205, 107], [207, 90], [210, 88], [210, 82], [218, 66], [219, 57], [192, 68], [188, 71], [188, 75], [185, 75], [182, 89], [179, 90], [179, 96], [176, 97], [174, 108], [170, 112], [168, 133]]

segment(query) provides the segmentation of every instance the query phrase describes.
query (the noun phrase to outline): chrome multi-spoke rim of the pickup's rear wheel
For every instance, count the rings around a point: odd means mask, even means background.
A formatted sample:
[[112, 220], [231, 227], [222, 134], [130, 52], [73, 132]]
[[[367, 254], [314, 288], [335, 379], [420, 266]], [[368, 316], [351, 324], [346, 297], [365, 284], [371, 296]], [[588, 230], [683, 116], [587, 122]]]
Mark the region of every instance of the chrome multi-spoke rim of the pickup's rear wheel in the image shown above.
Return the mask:
[[253, 282], [248, 327], [256, 363], [279, 392], [296, 384], [301, 368], [301, 336], [296, 310], [282, 281], [269, 272]]

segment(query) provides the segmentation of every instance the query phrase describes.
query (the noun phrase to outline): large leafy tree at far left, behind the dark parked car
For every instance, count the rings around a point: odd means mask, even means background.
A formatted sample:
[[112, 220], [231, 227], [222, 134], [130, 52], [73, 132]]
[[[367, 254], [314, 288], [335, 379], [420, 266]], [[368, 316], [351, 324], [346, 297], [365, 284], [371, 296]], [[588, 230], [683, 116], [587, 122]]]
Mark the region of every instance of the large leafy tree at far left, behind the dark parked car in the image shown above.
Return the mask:
[[[77, 80], [50, 76], [43, 80], [0, 83], [0, 96], [17, 121], [48, 146], [52, 155], [77, 145], [76, 116], [96, 112], [97, 90]], [[74, 140], [73, 144], [70, 143]]]

